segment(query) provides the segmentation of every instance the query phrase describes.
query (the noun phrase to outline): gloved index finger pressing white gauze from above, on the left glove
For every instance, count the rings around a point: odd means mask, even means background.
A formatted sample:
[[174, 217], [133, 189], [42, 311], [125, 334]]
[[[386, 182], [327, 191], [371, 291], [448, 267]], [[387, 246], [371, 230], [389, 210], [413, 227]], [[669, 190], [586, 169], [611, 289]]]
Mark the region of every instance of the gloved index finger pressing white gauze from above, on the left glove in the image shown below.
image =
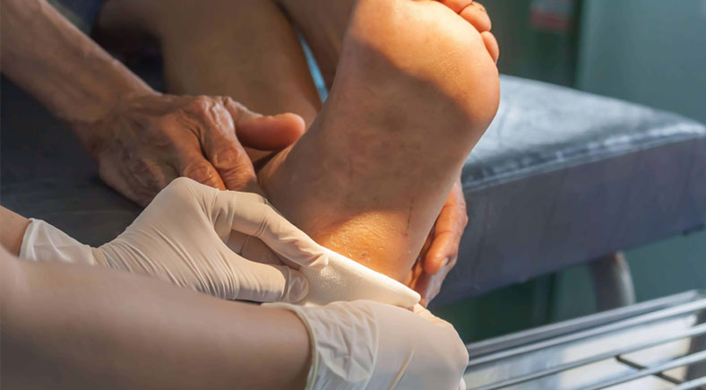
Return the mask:
[[316, 270], [328, 264], [323, 247], [297, 229], [270, 205], [254, 201], [242, 193], [220, 192], [219, 204], [237, 204], [232, 229], [263, 240], [277, 255]]

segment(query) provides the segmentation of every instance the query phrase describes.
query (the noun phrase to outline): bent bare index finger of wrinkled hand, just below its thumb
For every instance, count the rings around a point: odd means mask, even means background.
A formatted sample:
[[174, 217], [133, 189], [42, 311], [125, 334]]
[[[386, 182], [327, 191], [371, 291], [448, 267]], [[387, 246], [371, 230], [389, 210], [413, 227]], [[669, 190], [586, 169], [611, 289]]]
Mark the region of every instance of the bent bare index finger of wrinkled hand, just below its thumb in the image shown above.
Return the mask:
[[236, 130], [228, 110], [214, 104], [202, 117], [202, 149], [226, 188], [261, 192], [253, 163], [237, 141]]

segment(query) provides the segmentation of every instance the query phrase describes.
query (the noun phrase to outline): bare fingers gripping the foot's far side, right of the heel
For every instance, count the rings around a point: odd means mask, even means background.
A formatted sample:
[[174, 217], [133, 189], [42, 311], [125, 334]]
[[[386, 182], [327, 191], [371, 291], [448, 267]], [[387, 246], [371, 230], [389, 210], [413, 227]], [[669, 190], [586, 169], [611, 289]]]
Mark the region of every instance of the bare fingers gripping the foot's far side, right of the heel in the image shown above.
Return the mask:
[[456, 265], [461, 236], [468, 222], [466, 199], [459, 178], [405, 281], [422, 296], [420, 303], [423, 306], [435, 298], [446, 275]]

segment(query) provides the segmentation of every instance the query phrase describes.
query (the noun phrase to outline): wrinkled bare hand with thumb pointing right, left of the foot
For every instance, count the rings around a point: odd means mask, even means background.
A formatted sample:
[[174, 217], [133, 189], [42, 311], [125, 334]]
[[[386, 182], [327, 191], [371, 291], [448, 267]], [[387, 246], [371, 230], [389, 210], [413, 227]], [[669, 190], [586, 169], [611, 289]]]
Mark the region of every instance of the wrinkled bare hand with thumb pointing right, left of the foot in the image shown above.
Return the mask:
[[263, 117], [227, 97], [165, 94], [124, 101], [80, 127], [100, 178], [141, 205], [180, 176], [261, 193], [248, 156], [253, 151], [244, 146], [275, 151], [304, 133], [304, 121], [294, 114]]

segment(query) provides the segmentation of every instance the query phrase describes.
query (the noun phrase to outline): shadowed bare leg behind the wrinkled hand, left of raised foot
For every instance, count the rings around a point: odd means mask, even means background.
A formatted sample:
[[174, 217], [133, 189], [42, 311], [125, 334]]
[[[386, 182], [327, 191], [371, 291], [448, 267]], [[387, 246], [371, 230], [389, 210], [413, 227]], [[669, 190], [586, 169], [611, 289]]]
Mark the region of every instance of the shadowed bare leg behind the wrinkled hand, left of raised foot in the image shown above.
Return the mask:
[[171, 93], [229, 96], [307, 125], [321, 107], [297, 36], [271, 0], [110, 0], [99, 28], [156, 41]]

